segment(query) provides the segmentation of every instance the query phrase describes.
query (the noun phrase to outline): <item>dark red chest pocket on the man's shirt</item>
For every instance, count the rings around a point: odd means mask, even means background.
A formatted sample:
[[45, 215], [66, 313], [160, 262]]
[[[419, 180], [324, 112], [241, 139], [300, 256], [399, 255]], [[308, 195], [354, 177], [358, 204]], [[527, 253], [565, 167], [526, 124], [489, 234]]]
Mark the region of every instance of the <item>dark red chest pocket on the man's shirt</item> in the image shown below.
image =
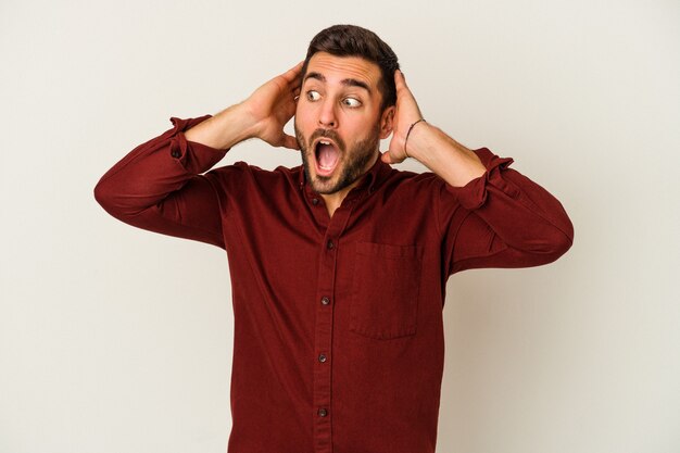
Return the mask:
[[423, 250], [356, 243], [350, 330], [388, 340], [416, 332]]

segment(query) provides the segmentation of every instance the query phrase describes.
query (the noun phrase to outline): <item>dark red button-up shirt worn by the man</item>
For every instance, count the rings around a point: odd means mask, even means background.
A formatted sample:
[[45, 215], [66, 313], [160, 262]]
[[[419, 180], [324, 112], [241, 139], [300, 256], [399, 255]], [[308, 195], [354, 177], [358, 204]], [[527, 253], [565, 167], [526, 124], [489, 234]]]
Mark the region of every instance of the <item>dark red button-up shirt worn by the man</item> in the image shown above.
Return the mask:
[[[174, 128], [111, 168], [114, 217], [226, 250], [234, 304], [229, 453], [433, 453], [450, 275], [555, 261], [562, 204], [486, 148], [456, 188], [380, 160], [329, 217], [302, 167], [243, 162]], [[205, 173], [207, 172], [207, 173]]]

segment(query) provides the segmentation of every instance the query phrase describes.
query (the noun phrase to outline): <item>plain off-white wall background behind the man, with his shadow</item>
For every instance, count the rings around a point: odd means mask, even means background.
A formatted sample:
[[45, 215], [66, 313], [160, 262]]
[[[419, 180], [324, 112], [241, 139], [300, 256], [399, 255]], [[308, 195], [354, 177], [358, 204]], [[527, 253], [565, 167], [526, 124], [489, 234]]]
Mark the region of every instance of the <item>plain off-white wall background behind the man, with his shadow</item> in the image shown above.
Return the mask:
[[[575, 224], [556, 263], [450, 279], [438, 452], [680, 451], [677, 1], [2, 0], [0, 453], [224, 452], [226, 257], [92, 189], [336, 23], [378, 33], [430, 123]], [[219, 165], [239, 160], [300, 163], [250, 141]]]

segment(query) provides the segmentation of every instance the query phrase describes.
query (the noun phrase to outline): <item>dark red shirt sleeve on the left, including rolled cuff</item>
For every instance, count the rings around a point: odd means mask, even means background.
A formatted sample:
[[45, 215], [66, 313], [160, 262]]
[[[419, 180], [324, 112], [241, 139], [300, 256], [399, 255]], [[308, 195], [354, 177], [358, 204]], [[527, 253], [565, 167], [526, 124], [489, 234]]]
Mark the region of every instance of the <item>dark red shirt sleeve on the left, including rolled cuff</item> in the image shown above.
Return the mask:
[[101, 177], [95, 188], [99, 204], [129, 225], [224, 249], [217, 194], [202, 173], [228, 150], [187, 141], [184, 134], [210, 116], [172, 117], [173, 128], [135, 148]]

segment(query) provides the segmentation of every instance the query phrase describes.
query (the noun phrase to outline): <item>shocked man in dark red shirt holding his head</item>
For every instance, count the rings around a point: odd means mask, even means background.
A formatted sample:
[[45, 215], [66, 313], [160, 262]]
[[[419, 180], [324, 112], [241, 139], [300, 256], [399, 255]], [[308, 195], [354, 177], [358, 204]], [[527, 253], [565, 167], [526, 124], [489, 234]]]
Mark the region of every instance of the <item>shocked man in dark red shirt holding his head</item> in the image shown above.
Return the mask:
[[[446, 279], [555, 261], [574, 236], [561, 203], [512, 159], [423, 121], [392, 50], [355, 26], [320, 32], [242, 103], [172, 122], [96, 197], [126, 223], [227, 251], [228, 452], [435, 452]], [[209, 172], [249, 138], [300, 149], [303, 165]], [[406, 158], [431, 173], [390, 167]]]

